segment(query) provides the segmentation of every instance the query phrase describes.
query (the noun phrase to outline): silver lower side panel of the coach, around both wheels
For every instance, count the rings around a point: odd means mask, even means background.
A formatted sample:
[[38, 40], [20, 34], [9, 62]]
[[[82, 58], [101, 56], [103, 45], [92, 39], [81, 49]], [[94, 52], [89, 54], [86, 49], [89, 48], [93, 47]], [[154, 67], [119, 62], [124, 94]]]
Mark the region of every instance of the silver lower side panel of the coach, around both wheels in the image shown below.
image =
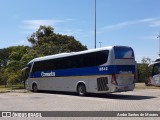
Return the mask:
[[68, 91], [76, 92], [77, 84], [84, 83], [86, 90], [89, 90], [88, 77], [47, 77], [47, 78], [30, 78], [26, 81], [28, 90], [32, 90], [33, 83], [36, 83], [39, 90], [51, 91]]

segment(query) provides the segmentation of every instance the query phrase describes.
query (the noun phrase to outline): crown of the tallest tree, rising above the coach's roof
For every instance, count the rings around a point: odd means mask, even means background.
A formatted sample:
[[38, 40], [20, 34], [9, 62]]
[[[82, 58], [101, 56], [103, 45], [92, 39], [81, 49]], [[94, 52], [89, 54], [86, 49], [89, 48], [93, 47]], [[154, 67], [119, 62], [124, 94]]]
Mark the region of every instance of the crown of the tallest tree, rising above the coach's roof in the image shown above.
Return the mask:
[[40, 56], [87, 49], [73, 36], [54, 33], [54, 28], [51, 26], [40, 26], [36, 32], [28, 37], [28, 41]]

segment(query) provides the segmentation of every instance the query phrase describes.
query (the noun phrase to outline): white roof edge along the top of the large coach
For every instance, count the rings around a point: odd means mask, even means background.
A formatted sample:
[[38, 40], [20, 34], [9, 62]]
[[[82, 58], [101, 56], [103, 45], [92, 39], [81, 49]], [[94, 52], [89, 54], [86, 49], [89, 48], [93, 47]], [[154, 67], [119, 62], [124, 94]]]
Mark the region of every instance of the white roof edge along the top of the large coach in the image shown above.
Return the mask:
[[29, 63], [35, 62], [35, 61], [49, 60], [49, 59], [53, 59], [53, 58], [61, 58], [61, 57], [67, 57], [67, 56], [72, 56], [72, 55], [91, 53], [91, 52], [96, 52], [96, 51], [101, 51], [101, 50], [111, 50], [114, 47], [127, 47], [127, 46], [108, 46], [108, 47], [90, 49], [90, 50], [85, 50], [85, 51], [80, 51], [80, 52], [70, 52], [70, 53], [60, 53], [60, 54], [55, 54], [55, 55], [48, 55], [48, 56], [44, 56], [44, 57], [35, 58], [35, 59], [31, 60]]

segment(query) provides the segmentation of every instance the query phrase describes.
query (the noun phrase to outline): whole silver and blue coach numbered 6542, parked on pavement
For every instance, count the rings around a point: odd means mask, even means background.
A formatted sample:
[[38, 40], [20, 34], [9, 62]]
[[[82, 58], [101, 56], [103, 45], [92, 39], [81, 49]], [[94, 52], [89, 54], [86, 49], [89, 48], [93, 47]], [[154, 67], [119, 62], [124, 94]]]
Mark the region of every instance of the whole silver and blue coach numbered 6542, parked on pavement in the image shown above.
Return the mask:
[[27, 90], [113, 93], [135, 87], [134, 51], [127, 46], [61, 53], [31, 60], [23, 69]]

